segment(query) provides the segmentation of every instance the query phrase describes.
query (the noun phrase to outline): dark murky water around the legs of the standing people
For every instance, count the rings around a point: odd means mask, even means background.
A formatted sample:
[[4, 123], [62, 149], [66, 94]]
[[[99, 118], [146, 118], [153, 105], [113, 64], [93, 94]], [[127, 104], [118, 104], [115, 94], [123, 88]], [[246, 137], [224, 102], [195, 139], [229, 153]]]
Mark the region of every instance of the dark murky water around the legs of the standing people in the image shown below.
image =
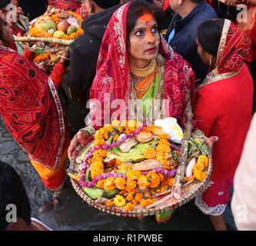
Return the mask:
[[[71, 102], [69, 111], [71, 121], [79, 121], [79, 115], [74, 116], [78, 105]], [[81, 124], [83, 124], [81, 122]], [[54, 230], [212, 230], [208, 216], [198, 211], [194, 204], [187, 204], [176, 210], [171, 220], [158, 224], [151, 216], [138, 220], [137, 218], [119, 218], [91, 208], [76, 194], [71, 182], [66, 178], [65, 191], [60, 198], [60, 205], [54, 211], [38, 214], [38, 208], [52, 198], [46, 190], [34, 168], [28, 161], [27, 155], [8, 134], [0, 118], [0, 160], [12, 165], [21, 175], [28, 197], [31, 201], [32, 216], [38, 218]], [[68, 167], [68, 161], [66, 163]]]

